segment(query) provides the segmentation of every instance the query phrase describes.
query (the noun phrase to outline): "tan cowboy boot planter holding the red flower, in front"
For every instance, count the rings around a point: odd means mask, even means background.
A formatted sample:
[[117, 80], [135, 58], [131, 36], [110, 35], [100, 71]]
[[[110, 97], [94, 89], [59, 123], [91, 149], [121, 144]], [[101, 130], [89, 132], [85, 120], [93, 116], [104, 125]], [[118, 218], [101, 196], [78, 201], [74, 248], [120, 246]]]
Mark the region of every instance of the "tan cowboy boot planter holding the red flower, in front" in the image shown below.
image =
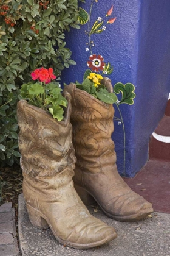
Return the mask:
[[24, 100], [18, 102], [23, 193], [33, 226], [50, 227], [60, 243], [88, 249], [117, 235], [114, 228], [90, 215], [73, 187], [76, 158], [70, 95], [65, 96], [68, 106], [61, 122]]

